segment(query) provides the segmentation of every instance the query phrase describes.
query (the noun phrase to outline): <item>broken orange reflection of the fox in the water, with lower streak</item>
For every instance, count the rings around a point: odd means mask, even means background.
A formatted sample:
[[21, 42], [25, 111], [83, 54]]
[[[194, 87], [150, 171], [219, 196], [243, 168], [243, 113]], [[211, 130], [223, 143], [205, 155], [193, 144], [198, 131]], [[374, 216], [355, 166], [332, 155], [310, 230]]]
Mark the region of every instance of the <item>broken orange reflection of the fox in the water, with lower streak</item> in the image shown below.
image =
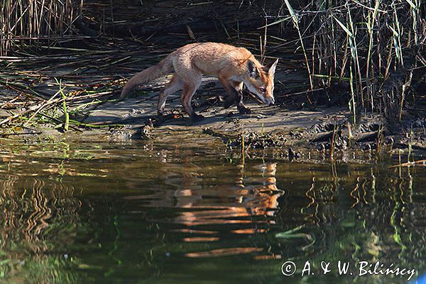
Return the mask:
[[[273, 218], [278, 211], [278, 198], [283, 195], [283, 191], [276, 186], [276, 163], [258, 165], [256, 167], [258, 174], [253, 175], [251, 171], [250, 178], [247, 178], [247, 185], [244, 182], [244, 167], [241, 165], [237, 165], [237, 178], [234, 185], [203, 187], [203, 180], [209, 183], [211, 177], [203, 176], [199, 173], [201, 170], [190, 164], [185, 166], [185, 171], [178, 177], [169, 172], [168, 183], [172, 182], [174, 187], [178, 182], [181, 184], [177, 190], [161, 190], [149, 196], [139, 195], [128, 198], [142, 199], [144, 207], [178, 209], [174, 217], [160, 222], [183, 225], [183, 228], [173, 231], [183, 233], [182, 240], [185, 242], [219, 241], [220, 236], [226, 233], [261, 234], [268, 231], [270, 224], [275, 224]], [[220, 177], [214, 179], [220, 180]], [[221, 231], [217, 231], [218, 228]], [[187, 256], [223, 256], [262, 250], [239, 247], [187, 253]]]

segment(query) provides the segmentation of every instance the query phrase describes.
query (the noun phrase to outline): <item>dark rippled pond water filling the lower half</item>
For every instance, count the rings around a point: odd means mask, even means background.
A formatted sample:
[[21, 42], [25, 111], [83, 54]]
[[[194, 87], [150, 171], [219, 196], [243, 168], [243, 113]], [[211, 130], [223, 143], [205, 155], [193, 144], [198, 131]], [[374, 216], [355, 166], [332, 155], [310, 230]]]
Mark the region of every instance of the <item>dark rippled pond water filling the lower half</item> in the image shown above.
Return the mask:
[[408, 283], [359, 275], [360, 261], [425, 273], [424, 166], [277, 157], [214, 143], [4, 144], [0, 282]]

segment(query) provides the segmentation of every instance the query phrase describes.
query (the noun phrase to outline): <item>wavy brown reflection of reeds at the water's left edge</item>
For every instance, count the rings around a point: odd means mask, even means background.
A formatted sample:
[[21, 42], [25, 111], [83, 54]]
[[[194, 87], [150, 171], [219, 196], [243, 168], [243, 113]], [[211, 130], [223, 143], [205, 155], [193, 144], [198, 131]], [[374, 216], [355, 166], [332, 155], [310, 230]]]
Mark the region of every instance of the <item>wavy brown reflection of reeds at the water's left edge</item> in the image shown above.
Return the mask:
[[[9, 178], [1, 182], [3, 189], [0, 195], [1, 208], [3, 209], [2, 235], [15, 239], [25, 239], [35, 253], [40, 248], [34, 246], [40, 241], [43, 231], [48, 229], [62, 216], [66, 217], [67, 225], [77, 224], [79, 221], [78, 210], [81, 202], [72, 197], [74, 190], [60, 183], [53, 185], [53, 190], [46, 190], [47, 185], [43, 180], [32, 179], [31, 184], [20, 190], [17, 178]], [[51, 218], [55, 215], [55, 220]], [[51, 229], [51, 228], [50, 228]], [[21, 234], [23, 232], [23, 234]], [[2, 243], [4, 246], [6, 243]], [[43, 250], [42, 250], [43, 251]]]

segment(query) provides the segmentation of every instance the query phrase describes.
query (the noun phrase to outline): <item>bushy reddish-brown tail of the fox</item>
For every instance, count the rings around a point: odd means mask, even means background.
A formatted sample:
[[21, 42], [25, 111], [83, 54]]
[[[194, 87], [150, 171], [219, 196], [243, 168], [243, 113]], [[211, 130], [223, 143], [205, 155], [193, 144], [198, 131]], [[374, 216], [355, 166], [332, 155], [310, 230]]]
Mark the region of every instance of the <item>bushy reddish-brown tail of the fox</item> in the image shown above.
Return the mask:
[[127, 97], [129, 92], [136, 86], [140, 84], [144, 84], [146, 82], [152, 81], [161, 77], [163, 75], [168, 74], [172, 70], [173, 62], [172, 58], [169, 55], [167, 58], [164, 58], [157, 65], [151, 66], [146, 70], [138, 72], [136, 75], [130, 78], [129, 81], [124, 85], [121, 90], [120, 99], [124, 99]]

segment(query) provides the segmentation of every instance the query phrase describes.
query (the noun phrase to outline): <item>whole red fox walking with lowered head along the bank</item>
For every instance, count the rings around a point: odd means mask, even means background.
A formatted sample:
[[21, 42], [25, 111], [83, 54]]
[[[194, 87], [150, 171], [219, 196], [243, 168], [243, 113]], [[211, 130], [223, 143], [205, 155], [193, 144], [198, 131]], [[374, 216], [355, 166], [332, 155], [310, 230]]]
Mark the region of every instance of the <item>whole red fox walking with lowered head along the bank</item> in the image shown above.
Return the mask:
[[249, 114], [250, 109], [243, 104], [243, 84], [264, 104], [274, 104], [273, 78], [277, 63], [278, 59], [271, 65], [262, 66], [246, 48], [224, 43], [192, 43], [178, 48], [157, 65], [131, 77], [124, 85], [120, 98], [124, 99], [134, 87], [174, 70], [175, 74], [158, 97], [158, 114], [164, 113], [168, 95], [182, 89], [180, 99], [187, 114], [194, 121], [203, 119], [204, 116], [196, 114], [191, 107], [192, 96], [200, 87], [202, 75], [216, 76], [224, 86], [228, 93], [225, 108], [236, 102], [240, 113]]

